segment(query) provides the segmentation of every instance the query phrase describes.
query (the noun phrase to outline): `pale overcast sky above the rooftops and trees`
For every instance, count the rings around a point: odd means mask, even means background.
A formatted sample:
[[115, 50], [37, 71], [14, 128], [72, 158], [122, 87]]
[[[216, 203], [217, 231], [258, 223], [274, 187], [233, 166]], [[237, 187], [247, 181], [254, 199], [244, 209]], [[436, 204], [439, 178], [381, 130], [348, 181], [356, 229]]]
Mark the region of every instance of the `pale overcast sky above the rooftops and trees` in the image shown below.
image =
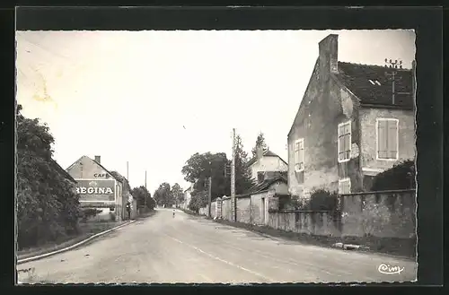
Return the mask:
[[[415, 56], [413, 30], [17, 31], [23, 115], [47, 123], [54, 159], [81, 156], [145, 185], [189, 187], [180, 170], [195, 152], [251, 154], [265, 134], [287, 160], [287, 133], [318, 57], [339, 34], [339, 61], [384, 65]], [[417, 65], [418, 66], [418, 65]]]

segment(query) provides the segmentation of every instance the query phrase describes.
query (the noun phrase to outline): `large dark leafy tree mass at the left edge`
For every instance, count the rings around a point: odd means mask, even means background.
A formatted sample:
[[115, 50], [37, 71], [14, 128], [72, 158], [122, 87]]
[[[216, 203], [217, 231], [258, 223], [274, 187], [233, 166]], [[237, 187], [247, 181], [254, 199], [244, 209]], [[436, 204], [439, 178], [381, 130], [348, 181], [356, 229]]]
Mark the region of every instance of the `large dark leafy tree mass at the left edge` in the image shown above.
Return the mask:
[[56, 161], [55, 139], [39, 119], [17, 121], [17, 226], [18, 247], [31, 247], [75, 233], [80, 216], [79, 196]]

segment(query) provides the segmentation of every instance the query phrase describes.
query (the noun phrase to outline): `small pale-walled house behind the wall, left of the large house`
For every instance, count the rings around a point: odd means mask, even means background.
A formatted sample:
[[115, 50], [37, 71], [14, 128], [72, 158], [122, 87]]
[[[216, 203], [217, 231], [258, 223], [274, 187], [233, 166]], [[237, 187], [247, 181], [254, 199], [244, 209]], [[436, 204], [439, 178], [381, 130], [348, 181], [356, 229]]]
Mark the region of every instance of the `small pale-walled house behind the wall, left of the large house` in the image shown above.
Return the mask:
[[276, 153], [268, 150], [263, 151], [261, 148], [257, 149], [257, 154], [250, 161], [248, 167], [251, 169], [251, 178], [258, 181], [259, 172], [275, 172], [287, 171], [288, 164], [282, 160]]

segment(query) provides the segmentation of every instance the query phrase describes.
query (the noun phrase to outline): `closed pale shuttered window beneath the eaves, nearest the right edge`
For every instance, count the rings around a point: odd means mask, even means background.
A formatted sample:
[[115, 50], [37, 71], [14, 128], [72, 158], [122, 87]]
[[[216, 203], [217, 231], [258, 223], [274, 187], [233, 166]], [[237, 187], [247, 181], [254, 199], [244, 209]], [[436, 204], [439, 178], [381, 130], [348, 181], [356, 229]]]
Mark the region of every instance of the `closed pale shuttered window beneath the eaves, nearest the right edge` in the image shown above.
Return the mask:
[[399, 158], [399, 120], [378, 118], [376, 120], [376, 158], [377, 160], [396, 161]]

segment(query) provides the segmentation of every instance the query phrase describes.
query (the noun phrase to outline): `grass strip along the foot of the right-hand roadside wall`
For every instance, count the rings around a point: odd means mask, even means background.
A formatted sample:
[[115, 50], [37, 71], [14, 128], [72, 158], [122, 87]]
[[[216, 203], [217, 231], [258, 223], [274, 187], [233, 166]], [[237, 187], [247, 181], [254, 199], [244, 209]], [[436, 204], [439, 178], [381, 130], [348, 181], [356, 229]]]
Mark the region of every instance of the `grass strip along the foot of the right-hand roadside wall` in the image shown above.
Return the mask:
[[332, 236], [313, 236], [308, 234], [297, 233], [286, 230], [275, 230], [268, 226], [259, 226], [243, 222], [233, 222], [225, 220], [216, 220], [216, 222], [258, 232], [262, 236], [278, 237], [298, 241], [301, 243], [332, 247], [335, 243], [356, 244], [367, 246], [368, 249], [358, 250], [371, 253], [383, 253], [392, 256], [401, 256], [404, 258], [414, 259], [416, 256], [416, 240], [415, 239], [393, 239], [393, 238], [377, 238], [377, 237], [332, 237]]

